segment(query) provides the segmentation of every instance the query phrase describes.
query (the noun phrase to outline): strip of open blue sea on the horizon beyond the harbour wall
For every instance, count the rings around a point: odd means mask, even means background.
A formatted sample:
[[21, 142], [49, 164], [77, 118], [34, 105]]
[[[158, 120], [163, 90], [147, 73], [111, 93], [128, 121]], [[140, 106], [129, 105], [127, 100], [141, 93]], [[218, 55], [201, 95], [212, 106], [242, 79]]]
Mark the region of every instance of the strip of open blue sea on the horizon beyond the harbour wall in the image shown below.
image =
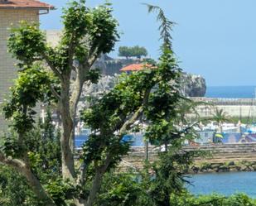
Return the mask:
[[207, 98], [254, 98], [256, 86], [207, 87]]

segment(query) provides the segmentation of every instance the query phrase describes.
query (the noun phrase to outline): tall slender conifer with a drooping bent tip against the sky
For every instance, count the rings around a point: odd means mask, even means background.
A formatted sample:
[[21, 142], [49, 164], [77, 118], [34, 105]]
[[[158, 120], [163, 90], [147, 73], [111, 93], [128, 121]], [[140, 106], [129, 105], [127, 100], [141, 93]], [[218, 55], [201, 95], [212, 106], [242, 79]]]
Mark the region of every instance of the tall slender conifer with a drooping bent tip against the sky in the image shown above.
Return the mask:
[[[149, 164], [146, 168], [147, 171], [153, 170], [155, 174], [154, 180], [146, 178], [146, 190], [154, 202], [152, 205], [169, 206], [172, 205], [171, 195], [180, 195], [186, 190], [184, 189], [184, 182], [186, 182], [184, 175], [194, 157], [199, 155], [197, 151], [182, 151], [183, 142], [196, 137], [194, 131], [196, 123], [190, 125], [190, 122], [187, 122], [184, 113], [191, 112], [194, 105], [190, 100], [182, 97], [178, 89], [181, 69], [176, 64], [175, 55], [171, 50], [173, 22], [167, 19], [160, 7], [147, 5], [147, 8], [148, 12], [157, 12], [157, 21], [161, 23], [159, 31], [163, 43], [158, 69], [176, 68], [171, 81], [161, 81], [157, 84], [158, 89], [150, 99], [150, 109], [145, 113], [147, 120], [151, 122], [146, 131], [147, 139], [156, 142], [158, 146], [164, 145], [165, 148], [164, 151], [160, 150], [159, 160], [152, 165]], [[187, 110], [181, 108], [183, 102], [189, 105]], [[180, 122], [185, 127], [180, 127]]]

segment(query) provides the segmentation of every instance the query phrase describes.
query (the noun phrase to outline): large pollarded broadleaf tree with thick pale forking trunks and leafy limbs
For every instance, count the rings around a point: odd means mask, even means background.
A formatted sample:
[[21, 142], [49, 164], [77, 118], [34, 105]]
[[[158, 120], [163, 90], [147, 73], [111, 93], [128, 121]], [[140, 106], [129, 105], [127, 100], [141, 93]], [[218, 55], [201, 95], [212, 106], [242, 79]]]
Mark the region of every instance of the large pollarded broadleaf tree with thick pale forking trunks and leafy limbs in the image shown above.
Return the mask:
[[[156, 69], [123, 74], [114, 89], [82, 112], [83, 121], [93, 132], [83, 151], [76, 154], [79, 160], [75, 161], [75, 119], [82, 87], [88, 81], [97, 81], [99, 74], [91, 67], [100, 54], [113, 49], [118, 39], [117, 22], [111, 12], [106, 5], [90, 9], [85, 1], [72, 2], [65, 9], [65, 29], [59, 46], [47, 46], [38, 26], [25, 22], [12, 31], [8, 41], [21, 71], [3, 108], [5, 117], [12, 120], [16, 136], [11, 140], [6, 137], [7, 147], [1, 150], [0, 161], [26, 178], [42, 205], [94, 205], [104, 175], [129, 151], [129, 142], [123, 141], [123, 135], [133, 129], [139, 119], [149, 123], [147, 137], [159, 142], [181, 145], [186, 135], [187, 130], [179, 131], [173, 121], [176, 103], [181, 98], [177, 87], [180, 69], [171, 46], [164, 39]], [[36, 146], [31, 136], [38, 102], [59, 106], [61, 168], [57, 152], [56, 165], [52, 165], [46, 160], [49, 156], [43, 155], [45, 148]], [[51, 139], [51, 133], [50, 127], [45, 136]], [[45, 160], [37, 158], [38, 154]], [[176, 174], [180, 180], [181, 172], [173, 173], [173, 161], [168, 166], [171, 173], [164, 178], [171, 181]], [[50, 170], [56, 170], [52, 177], [47, 172]], [[156, 185], [157, 191], [161, 184]], [[170, 187], [161, 189], [166, 200]]]

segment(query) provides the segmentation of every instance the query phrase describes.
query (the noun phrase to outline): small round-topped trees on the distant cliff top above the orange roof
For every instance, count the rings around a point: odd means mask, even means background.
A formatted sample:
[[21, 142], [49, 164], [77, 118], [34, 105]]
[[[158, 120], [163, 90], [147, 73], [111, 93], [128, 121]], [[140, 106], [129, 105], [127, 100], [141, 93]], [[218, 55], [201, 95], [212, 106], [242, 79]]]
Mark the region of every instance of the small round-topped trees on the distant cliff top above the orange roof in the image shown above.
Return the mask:
[[120, 46], [118, 52], [119, 56], [124, 56], [127, 59], [128, 57], [137, 57], [138, 59], [141, 59], [142, 56], [147, 56], [146, 48], [140, 46]]

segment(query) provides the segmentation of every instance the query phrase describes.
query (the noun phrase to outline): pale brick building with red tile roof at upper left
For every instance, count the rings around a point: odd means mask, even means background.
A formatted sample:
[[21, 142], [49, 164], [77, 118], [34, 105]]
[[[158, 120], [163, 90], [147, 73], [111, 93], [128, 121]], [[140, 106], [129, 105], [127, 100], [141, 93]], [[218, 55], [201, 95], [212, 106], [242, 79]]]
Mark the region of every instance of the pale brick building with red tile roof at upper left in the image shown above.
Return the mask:
[[[39, 16], [54, 7], [36, 0], [0, 0], [0, 103], [17, 77], [16, 60], [7, 52], [7, 38], [10, 26], [19, 22], [39, 22]], [[0, 115], [0, 132], [6, 127]]]

